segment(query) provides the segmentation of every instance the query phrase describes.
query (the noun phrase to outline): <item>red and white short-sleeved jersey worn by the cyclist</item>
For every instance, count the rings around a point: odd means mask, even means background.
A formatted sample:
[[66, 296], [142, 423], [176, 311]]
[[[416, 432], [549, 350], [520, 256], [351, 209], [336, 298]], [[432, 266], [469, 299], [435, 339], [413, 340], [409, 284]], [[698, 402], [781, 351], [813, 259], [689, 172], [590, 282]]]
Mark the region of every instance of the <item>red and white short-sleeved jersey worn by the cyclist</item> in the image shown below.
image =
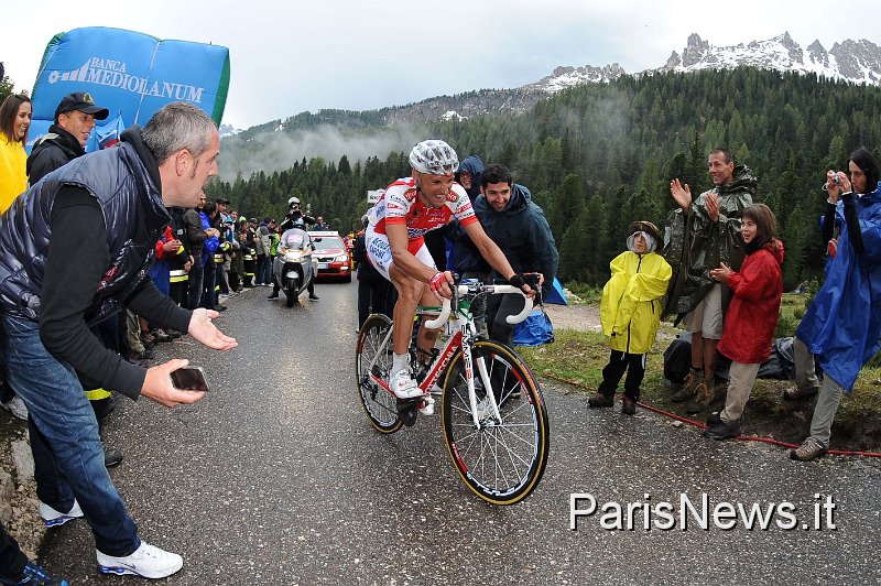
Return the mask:
[[409, 247], [422, 245], [425, 232], [442, 228], [456, 217], [463, 226], [477, 221], [471, 200], [465, 188], [454, 183], [442, 207], [426, 206], [416, 191], [416, 180], [404, 177], [395, 181], [385, 189], [385, 194], [367, 213], [373, 231], [385, 234], [385, 225], [404, 225], [410, 239]]

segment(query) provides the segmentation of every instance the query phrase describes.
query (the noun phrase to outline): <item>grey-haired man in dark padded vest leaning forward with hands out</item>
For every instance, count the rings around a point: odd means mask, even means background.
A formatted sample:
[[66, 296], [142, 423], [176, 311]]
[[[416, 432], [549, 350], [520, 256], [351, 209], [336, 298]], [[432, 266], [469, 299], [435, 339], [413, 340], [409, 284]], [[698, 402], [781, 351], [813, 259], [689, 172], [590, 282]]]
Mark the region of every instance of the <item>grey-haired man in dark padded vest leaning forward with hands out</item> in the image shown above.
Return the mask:
[[[195, 207], [217, 175], [220, 143], [208, 116], [189, 104], [157, 111], [121, 144], [80, 156], [43, 178], [2, 216], [0, 314], [10, 380], [54, 454], [53, 476], [40, 482], [41, 516], [62, 524], [85, 517], [98, 567], [107, 574], [162, 578], [181, 569], [180, 555], [142, 542], [104, 465], [98, 424], [77, 372], [131, 399], [162, 405], [193, 403], [168, 360], [149, 369], [105, 348], [89, 327], [126, 306], [150, 323], [187, 332], [217, 350], [235, 348], [211, 323], [218, 314], [189, 312], [150, 280], [166, 207]], [[54, 481], [53, 481], [54, 480]]]

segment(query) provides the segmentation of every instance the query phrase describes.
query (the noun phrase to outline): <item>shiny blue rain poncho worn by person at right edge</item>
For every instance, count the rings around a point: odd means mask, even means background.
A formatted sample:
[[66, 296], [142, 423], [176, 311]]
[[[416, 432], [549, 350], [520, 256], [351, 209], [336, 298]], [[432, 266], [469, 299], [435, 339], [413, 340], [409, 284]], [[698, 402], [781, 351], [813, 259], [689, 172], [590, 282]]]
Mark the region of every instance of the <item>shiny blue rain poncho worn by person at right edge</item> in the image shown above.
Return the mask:
[[881, 349], [881, 184], [855, 203], [864, 250], [853, 250], [839, 202], [838, 253], [795, 333], [826, 376], [848, 391]]

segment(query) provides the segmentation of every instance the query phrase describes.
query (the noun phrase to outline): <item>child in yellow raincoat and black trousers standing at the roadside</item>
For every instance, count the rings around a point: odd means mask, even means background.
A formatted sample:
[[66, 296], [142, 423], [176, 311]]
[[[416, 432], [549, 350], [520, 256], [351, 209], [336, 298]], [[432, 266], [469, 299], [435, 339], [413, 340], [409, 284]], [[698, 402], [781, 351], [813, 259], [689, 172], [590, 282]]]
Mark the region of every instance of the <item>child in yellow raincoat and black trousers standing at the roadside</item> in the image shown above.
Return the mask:
[[609, 263], [612, 276], [602, 289], [599, 310], [611, 356], [602, 369], [599, 392], [588, 404], [612, 406], [618, 383], [627, 371], [621, 413], [633, 415], [645, 376], [645, 358], [661, 324], [661, 297], [667, 291], [672, 270], [654, 251], [661, 240], [654, 224], [634, 221], [627, 232], [628, 251]]

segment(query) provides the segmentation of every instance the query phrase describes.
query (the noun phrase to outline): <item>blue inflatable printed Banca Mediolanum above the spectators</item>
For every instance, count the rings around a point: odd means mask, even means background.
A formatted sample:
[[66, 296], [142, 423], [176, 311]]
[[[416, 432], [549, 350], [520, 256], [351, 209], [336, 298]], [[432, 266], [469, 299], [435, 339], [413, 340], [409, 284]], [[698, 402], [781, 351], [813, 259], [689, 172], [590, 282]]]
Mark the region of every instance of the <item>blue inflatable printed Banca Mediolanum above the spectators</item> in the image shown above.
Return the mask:
[[145, 124], [160, 108], [187, 101], [220, 126], [229, 89], [229, 50], [189, 41], [160, 40], [122, 29], [88, 26], [58, 33], [46, 45], [32, 95], [29, 150], [45, 134], [61, 99], [88, 91], [110, 110], [87, 150], [100, 148], [119, 128]]

